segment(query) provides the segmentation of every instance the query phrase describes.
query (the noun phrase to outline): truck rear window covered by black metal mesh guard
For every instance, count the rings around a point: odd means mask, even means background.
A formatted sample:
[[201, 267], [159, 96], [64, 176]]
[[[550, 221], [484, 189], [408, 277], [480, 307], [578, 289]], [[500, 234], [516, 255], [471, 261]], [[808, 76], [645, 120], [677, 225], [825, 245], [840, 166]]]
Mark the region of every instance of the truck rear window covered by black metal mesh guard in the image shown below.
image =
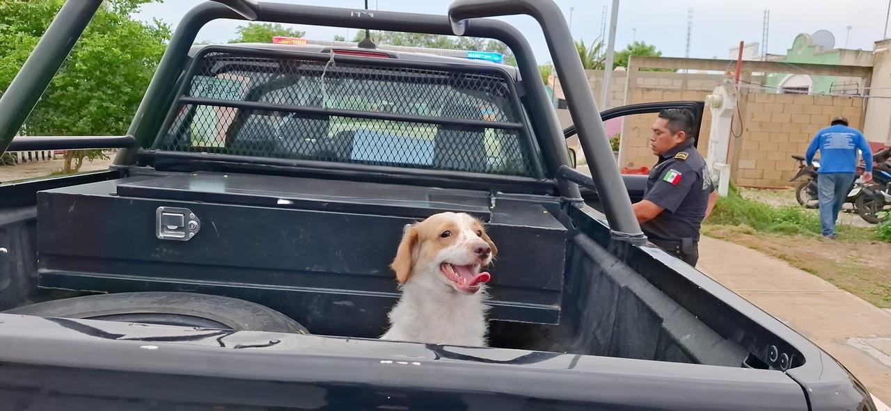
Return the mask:
[[152, 149], [535, 176], [503, 70], [265, 53], [200, 53]]

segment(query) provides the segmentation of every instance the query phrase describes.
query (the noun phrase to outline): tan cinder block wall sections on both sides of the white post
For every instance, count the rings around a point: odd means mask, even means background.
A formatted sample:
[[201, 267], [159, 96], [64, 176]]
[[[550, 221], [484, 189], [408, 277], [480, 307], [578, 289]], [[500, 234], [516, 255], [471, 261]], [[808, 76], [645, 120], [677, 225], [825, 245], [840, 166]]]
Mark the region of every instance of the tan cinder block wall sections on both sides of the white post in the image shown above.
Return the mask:
[[[588, 71], [588, 85], [597, 101], [601, 99], [602, 71]], [[656, 101], [705, 101], [723, 77], [707, 74], [641, 71], [634, 84], [627, 84], [625, 72], [617, 71], [612, 79], [610, 107]], [[752, 79], [758, 83], [757, 78]], [[627, 87], [630, 92], [626, 92]], [[559, 87], [559, 83], [558, 83]], [[558, 96], [562, 97], [558, 88]], [[620, 96], [622, 101], [619, 101]], [[830, 124], [834, 116], [850, 119], [851, 126], [862, 130], [863, 99], [846, 96], [800, 94], [743, 93], [740, 102], [742, 117], [741, 141], [731, 143], [733, 180], [737, 184], [759, 187], [785, 187], [797, 173], [793, 154], [804, 155], [813, 134]], [[601, 108], [602, 109], [602, 108]], [[650, 152], [650, 126], [655, 114], [625, 117], [619, 149], [619, 167], [651, 167], [656, 157]], [[739, 121], [735, 117], [734, 121]], [[708, 152], [711, 113], [706, 109], [699, 135], [699, 152]], [[740, 125], [735, 123], [735, 132]], [[739, 144], [737, 144], [739, 142]], [[738, 151], [738, 152], [737, 152]]]

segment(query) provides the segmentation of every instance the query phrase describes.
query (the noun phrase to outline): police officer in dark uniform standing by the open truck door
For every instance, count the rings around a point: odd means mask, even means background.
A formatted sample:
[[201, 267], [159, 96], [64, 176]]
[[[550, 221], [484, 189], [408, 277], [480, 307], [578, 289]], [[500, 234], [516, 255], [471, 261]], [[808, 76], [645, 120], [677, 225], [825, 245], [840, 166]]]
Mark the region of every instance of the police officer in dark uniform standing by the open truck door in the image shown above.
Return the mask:
[[717, 192], [705, 159], [693, 147], [693, 114], [664, 109], [652, 131], [650, 149], [659, 159], [634, 214], [651, 243], [696, 266], [699, 226], [715, 206]]

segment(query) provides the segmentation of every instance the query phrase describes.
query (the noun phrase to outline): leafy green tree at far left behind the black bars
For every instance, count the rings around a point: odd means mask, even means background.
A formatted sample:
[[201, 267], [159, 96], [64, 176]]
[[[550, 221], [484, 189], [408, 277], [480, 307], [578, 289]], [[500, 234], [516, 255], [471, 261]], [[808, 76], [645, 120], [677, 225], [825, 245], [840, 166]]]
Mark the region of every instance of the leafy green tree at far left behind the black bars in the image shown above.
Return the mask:
[[[108, 0], [99, 9], [28, 118], [29, 135], [127, 132], [170, 38], [170, 28], [135, 20], [142, 4]], [[12, 83], [65, 0], [0, 2], [0, 90]], [[99, 150], [69, 150], [63, 172], [76, 172]]]

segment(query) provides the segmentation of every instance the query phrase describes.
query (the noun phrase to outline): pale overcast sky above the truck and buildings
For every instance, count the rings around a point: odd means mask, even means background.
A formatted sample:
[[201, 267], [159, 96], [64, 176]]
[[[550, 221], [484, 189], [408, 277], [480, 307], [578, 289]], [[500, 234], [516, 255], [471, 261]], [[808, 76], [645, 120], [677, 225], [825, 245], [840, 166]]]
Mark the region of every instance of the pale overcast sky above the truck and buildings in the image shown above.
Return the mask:
[[[616, 48], [634, 40], [655, 44], [663, 56], [684, 57], [688, 9], [693, 9], [690, 57], [726, 59], [740, 40], [747, 44], [761, 42], [764, 10], [770, 10], [768, 52], [785, 54], [799, 33], [827, 29], [836, 38], [836, 47], [872, 50], [873, 42], [884, 36], [888, 1], [891, 0], [624, 0], [618, 7]], [[329, 5], [362, 8], [362, 0], [278, 0], [280, 3]], [[176, 28], [185, 12], [199, 0], [165, 0], [147, 4], [139, 12], [143, 20], [157, 18]], [[446, 14], [449, 0], [369, 0], [372, 9], [395, 12]], [[557, 0], [570, 20], [573, 36], [590, 42], [600, 36], [601, 16], [609, 0]], [[840, 4], [844, 4], [843, 6]], [[609, 19], [609, 12], [607, 14]], [[527, 36], [539, 63], [551, 60], [544, 36], [535, 20], [527, 16], [501, 18]], [[199, 41], [225, 42], [235, 36], [243, 22], [217, 20], [203, 28]], [[851, 26], [848, 35], [847, 26]], [[297, 26], [307, 38], [331, 40], [333, 36], [351, 39], [355, 29]], [[609, 26], [608, 26], [609, 31]], [[845, 43], [847, 41], [847, 46]]]

